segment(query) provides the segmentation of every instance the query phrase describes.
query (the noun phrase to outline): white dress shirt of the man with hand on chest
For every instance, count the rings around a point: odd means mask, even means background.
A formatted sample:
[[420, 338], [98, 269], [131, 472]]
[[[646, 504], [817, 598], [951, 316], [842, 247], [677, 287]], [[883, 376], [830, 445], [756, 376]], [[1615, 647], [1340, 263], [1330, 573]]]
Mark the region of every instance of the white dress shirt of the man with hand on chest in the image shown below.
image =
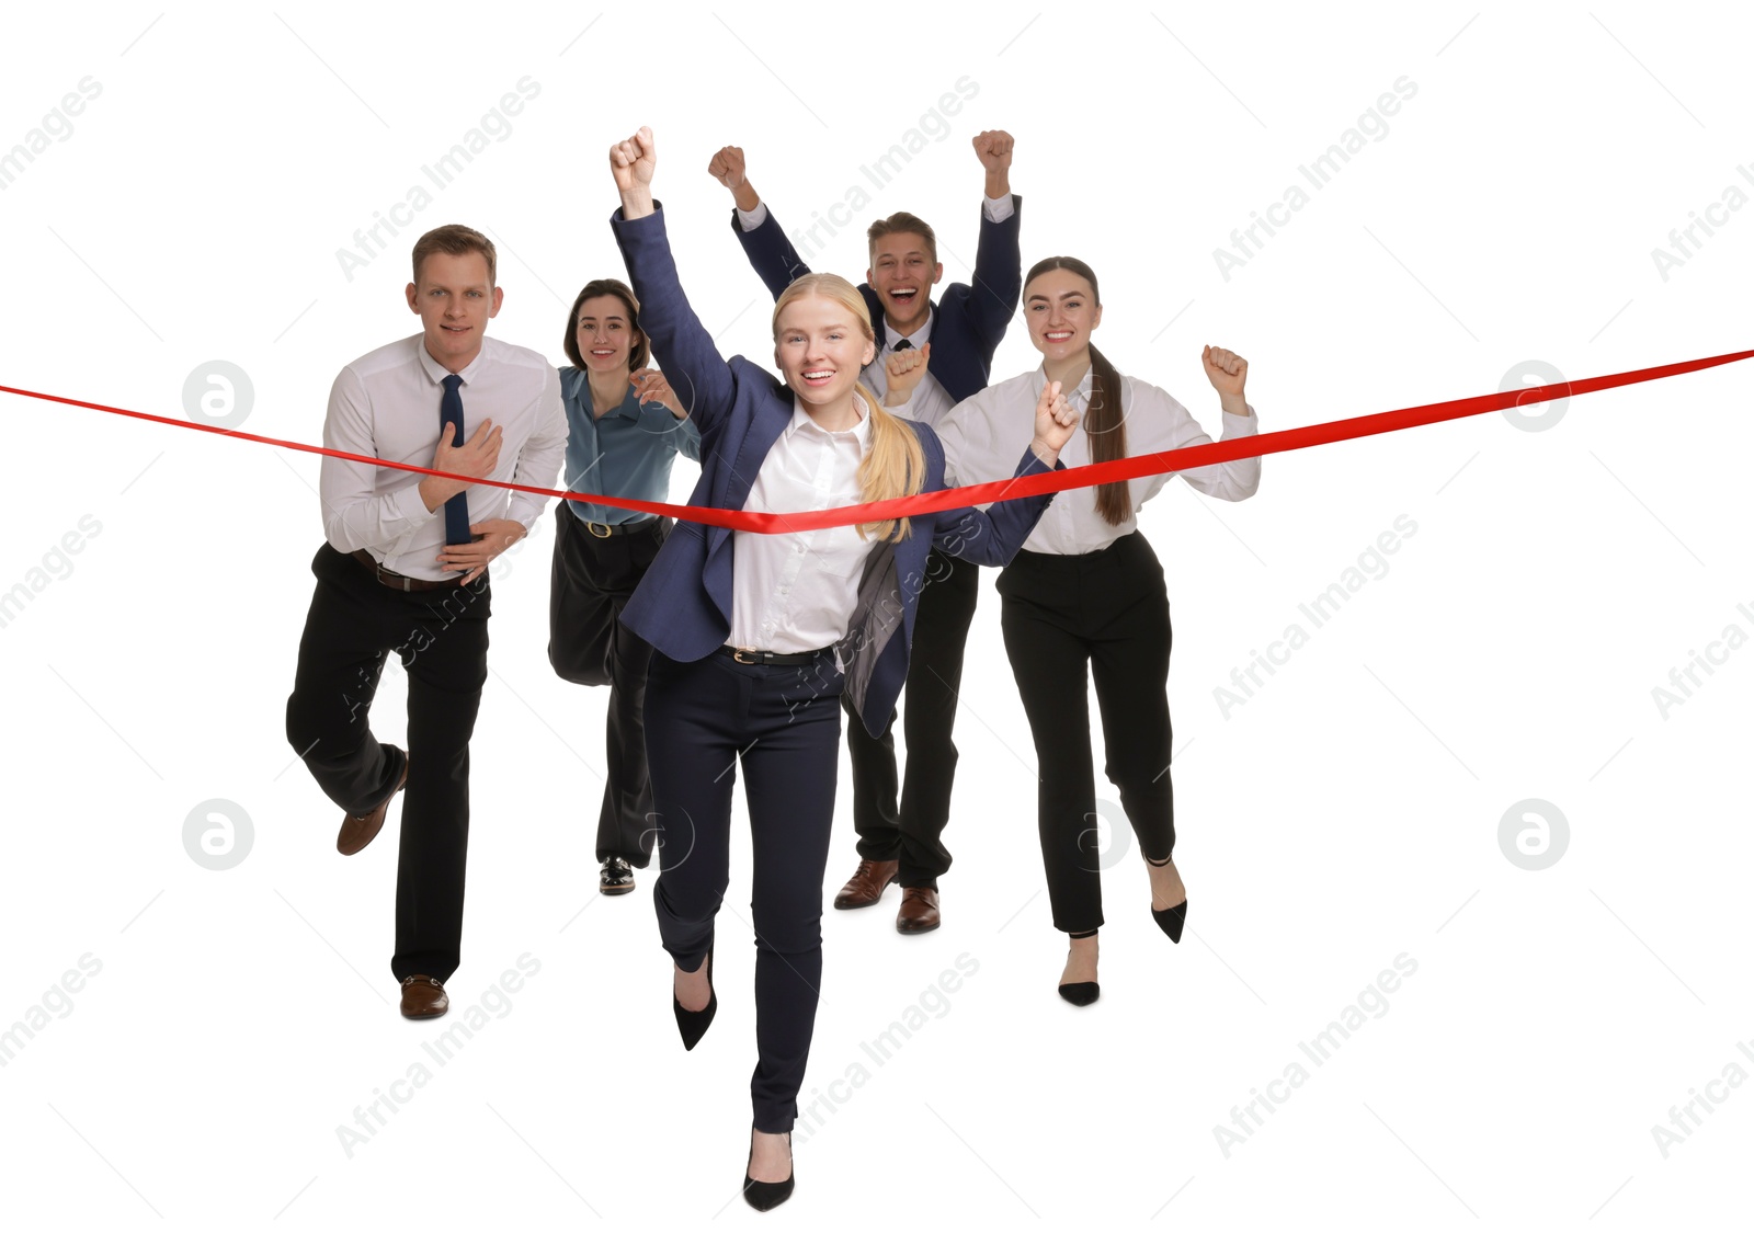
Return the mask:
[[[330, 389], [323, 444], [417, 467], [433, 465], [438, 447], [440, 384], [451, 375], [431, 358], [421, 335], [391, 342], [340, 370]], [[463, 372], [463, 438], [482, 419], [502, 430], [500, 463], [489, 479], [554, 488], [567, 451], [567, 412], [560, 374], [544, 356], [498, 339], [482, 339], [481, 353]], [[416, 579], [456, 579], [438, 565], [444, 547], [444, 505], [426, 509], [424, 475], [323, 460], [323, 533], [340, 552], [368, 551], [396, 574]], [[528, 531], [545, 496], [474, 486], [465, 493], [468, 521], [509, 517]]]

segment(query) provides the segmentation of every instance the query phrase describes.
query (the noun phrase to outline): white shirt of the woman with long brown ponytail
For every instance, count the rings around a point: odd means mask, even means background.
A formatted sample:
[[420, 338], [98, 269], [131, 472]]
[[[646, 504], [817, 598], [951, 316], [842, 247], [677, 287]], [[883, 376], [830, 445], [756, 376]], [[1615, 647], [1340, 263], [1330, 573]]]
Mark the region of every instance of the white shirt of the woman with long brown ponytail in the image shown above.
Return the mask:
[[[1010, 479], [1021, 454], [1035, 437], [1035, 405], [1042, 398], [1047, 374], [1042, 368], [988, 386], [956, 403], [938, 426], [944, 442], [944, 482], [951, 488], [980, 484], [993, 479]], [[1079, 388], [1066, 402], [1079, 412], [1079, 426], [1061, 447], [1059, 461], [1068, 468], [1091, 461], [1091, 444], [1084, 435], [1084, 412], [1089, 410], [1091, 374], [1084, 374]], [[1245, 403], [1247, 405], [1247, 403]], [[889, 410], [900, 410], [891, 407]], [[1144, 381], [1121, 375], [1121, 410], [1126, 423], [1126, 456], [1156, 454], [1166, 449], [1203, 445], [1205, 435], [1187, 409], [1163, 389]], [[1224, 437], [1254, 437], [1259, 419], [1249, 405], [1247, 416], [1224, 416]], [[1261, 460], [1238, 458], [1230, 463], [1212, 463], [1163, 475], [1128, 481], [1133, 512], [1119, 526], [1110, 526], [1096, 512], [1096, 489], [1075, 488], [1054, 498], [1042, 521], [1023, 542], [1028, 552], [1073, 556], [1094, 552], [1138, 528], [1138, 509], [1180, 475], [1207, 496], [1240, 502], [1252, 496], [1261, 484]]]

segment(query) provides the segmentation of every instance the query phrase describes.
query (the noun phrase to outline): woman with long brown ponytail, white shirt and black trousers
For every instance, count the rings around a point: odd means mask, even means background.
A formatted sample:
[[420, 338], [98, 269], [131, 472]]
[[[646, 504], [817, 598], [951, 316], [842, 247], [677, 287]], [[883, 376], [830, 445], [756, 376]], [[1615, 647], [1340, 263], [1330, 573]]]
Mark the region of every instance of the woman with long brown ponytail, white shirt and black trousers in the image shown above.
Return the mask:
[[[1210, 440], [1170, 395], [1116, 372], [1091, 346], [1102, 323], [1096, 274], [1077, 258], [1038, 261], [1024, 279], [1023, 314], [1042, 367], [966, 398], [938, 423], [945, 477], [996, 479], [1028, 431], [1030, 407], [1065, 395], [1082, 426], [1061, 451], [1068, 467], [1138, 458]], [[1221, 347], [1201, 353], [1219, 393], [1224, 438], [1251, 437], [1244, 400], [1247, 361]], [[902, 403], [905, 407], [905, 403]], [[1173, 472], [1207, 496], [1240, 502], [1261, 482], [1261, 460], [1240, 458]], [[1038, 763], [1037, 814], [1054, 928], [1070, 935], [1059, 996], [1096, 1000], [1096, 930], [1103, 923], [1096, 851], [1096, 777], [1091, 768], [1089, 695], [1096, 686], [1105, 766], [1151, 872], [1151, 916], [1182, 940], [1187, 891], [1170, 859], [1170, 602], [1163, 567], [1138, 533], [1138, 509], [1170, 475], [1061, 493], [998, 577], [1005, 654], [1017, 677]]]

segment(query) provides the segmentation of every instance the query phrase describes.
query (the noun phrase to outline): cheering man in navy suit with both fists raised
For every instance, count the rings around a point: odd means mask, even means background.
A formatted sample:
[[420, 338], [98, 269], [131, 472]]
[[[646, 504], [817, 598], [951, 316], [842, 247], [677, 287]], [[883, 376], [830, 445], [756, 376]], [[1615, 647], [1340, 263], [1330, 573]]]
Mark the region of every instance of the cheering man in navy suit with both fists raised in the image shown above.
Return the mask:
[[[931, 298], [931, 289], [944, 279], [944, 263], [938, 261], [931, 226], [914, 214], [891, 214], [866, 232], [870, 268], [859, 291], [872, 321], [882, 321], [882, 346], [865, 367], [863, 381], [888, 400], [886, 360], [896, 351], [917, 347], [926, 358], [926, 375], [900, 414], [933, 426], [954, 403], [986, 388], [993, 353], [1023, 293], [1017, 246], [1023, 202], [1010, 191], [1012, 137], [998, 130], [984, 132], [973, 139], [973, 147], [986, 168], [986, 200], [972, 284], [951, 282], [937, 300]], [[742, 149], [726, 146], [707, 170], [737, 198], [731, 230], [777, 298], [793, 279], [809, 274], [809, 267], [749, 184]], [[1024, 444], [1019, 440], [1019, 449]], [[951, 866], [942, 835], [951, 817], [956, 775], [952, 728], [979, 577], [979, 567], [947, 552], [933, 549], [928, 559], [930, 586], [919, 596], [907, 674], [907, 775], [900, 782], [900, 802], [895, 716], [882, 737], [872, 737], [863, 724], [847, 724], [859, 865], [835, 896], [835, 907], [872, 907], [889, 882], [900, 882], [902, 907], [895, 928], [902, 933], [926, 933], [940, 924], [938, 875]]]

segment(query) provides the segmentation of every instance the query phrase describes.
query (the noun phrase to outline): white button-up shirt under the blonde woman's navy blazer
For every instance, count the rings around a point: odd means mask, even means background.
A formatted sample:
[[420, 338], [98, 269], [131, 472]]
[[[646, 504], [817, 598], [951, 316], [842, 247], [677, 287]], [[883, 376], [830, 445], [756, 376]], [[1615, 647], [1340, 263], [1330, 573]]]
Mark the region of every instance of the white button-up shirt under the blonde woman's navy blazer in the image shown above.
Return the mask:
[[[761, 460], [744, 509], [777, 514], [856, 505], [859, 463], [872, 438], [865, 402], [854, 405], [859, 423], [831, 433], [817, 428], [795, 396], [791, 423]], [[795, 654], [845, 637], [872, 540], [851, 526], [731, 535], [737, 570], [726, 645]]]

